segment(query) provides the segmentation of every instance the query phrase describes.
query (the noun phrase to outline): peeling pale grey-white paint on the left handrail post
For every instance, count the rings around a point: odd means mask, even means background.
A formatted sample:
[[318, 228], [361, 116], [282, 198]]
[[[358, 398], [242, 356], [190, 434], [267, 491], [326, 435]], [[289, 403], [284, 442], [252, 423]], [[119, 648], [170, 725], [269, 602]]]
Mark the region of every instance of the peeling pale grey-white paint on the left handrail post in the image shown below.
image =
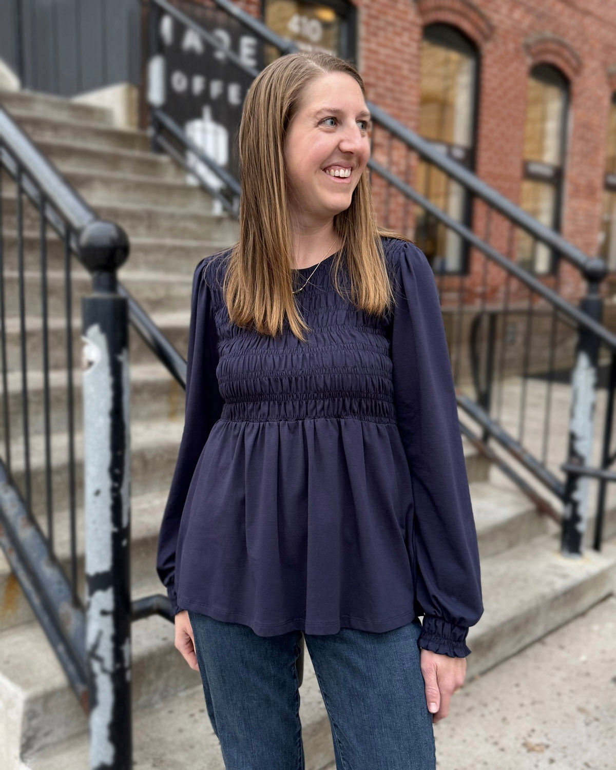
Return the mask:
[[131, 744], [130, 725], [122, 725], [130, 705], [130, 619], [119, 622], [127, 608], [118, 606], [130, 549], [129, 350], [123, 348], [114, 361], [111, 337], [99, 323], [87, 326], [82, 336], [91, 770], [128, 767], [122, 755]]

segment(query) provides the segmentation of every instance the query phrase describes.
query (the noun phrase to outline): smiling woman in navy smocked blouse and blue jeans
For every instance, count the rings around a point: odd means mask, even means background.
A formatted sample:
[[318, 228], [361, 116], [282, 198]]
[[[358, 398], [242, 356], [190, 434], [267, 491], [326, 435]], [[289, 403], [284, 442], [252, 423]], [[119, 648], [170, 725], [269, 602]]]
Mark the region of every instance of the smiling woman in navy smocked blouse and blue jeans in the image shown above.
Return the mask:
[[303, 768], [302, 633], [336, 767], [434, 768], [483, 611], [434, 276], [377, 226], [364, 95], [330, 55], [259, 74], [239, 241], [194, 276], [157, 570], [227, 768]]

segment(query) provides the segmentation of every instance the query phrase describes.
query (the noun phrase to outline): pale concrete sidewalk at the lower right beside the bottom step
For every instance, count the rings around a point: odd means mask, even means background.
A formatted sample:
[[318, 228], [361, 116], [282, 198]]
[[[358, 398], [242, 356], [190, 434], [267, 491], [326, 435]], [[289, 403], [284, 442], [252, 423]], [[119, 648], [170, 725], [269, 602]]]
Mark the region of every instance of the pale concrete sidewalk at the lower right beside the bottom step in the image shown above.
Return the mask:
[[467, 680], [434, 738], [439, 770], [616, 770], [616, 596]]

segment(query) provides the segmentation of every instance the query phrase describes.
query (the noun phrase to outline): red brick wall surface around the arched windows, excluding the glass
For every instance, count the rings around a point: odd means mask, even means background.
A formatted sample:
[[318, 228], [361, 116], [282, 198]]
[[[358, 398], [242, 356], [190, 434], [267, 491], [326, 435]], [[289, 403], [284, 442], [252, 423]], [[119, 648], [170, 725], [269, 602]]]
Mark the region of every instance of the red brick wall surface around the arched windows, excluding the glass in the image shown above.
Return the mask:
[[[259, 18], [260, 0], [237, 5]], [[571, 83], [561, 233], [596, 256], [608, 109], [616, 90], [616, 3], [355, 0], [354, 5], [358, 63], [368, 99], [410, 129], [417, 128], [423, 26], [449, 23], [474, 41], [480, 53], [474, 170], [514, 203], [520, 199], [528, 73], [540, 62], [561, 69]], [[484, 207], [478, 204], [474, 229], [483, 233], [484, 226]], [[501, 226], [494, 245], [503, 248], [505, 236]], [[565, 287], [567, 282], [579, 283], [574, 271], [561, 277]], [[565, 288], [563, 293], [570, 291]]]

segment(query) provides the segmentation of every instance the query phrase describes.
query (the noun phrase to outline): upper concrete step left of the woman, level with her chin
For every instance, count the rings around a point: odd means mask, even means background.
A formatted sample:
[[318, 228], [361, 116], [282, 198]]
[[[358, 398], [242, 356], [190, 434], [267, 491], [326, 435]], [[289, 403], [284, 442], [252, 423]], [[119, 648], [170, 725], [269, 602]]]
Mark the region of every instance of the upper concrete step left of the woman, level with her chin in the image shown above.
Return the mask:
[[128, 176], [117, 172], [90, 172], [65, 168], [63, 176], [88, 201], [122, 203], [139, 206], [172, 206], [190, 213], [209, 213], [212, 196], [200, 187], [183, 180], [152, 179], [151, 176]]

